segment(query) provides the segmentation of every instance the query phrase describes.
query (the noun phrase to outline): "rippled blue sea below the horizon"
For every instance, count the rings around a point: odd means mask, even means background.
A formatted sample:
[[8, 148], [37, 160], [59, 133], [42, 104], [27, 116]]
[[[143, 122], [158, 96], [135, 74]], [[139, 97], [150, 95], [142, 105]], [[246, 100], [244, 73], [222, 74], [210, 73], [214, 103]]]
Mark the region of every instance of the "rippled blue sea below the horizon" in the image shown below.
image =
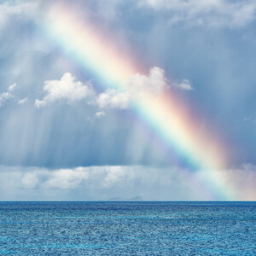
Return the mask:
[[0, 202], [0, 254], [256, 255], [256, 202]]

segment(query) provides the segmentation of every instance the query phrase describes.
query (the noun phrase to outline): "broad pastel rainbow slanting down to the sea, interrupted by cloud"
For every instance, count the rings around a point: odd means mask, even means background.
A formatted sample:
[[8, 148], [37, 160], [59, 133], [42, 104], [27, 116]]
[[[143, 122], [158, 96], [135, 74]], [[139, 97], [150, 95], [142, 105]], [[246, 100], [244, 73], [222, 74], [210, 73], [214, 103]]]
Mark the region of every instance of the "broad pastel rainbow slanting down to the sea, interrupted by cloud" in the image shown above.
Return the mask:
[[[129, 80], [139, 73], [139, 65], [131, 60], [131, 54], [117, 49], [110, 38], [103, 37], [98, 28], [79, 19], [79, 15], [67, 7], [51, 6], [45, 19], [44, 30], [49, 36], [81, 67], [95, 73], [102, 80], [102, 86], [126, 90]], [[159, 96], [145, 91], [132, 102], [132, 109], [162, 143], [204, 172], [202, 183], [210, 191], [212, 200], [241, 200], [236, 190], [226, 183], [227, 157], [218, 137], [213, 136], [210, 129], [199, 131], [196, 119], [189, 118], [183, 102], [172, 90]], [[183, 172], [184, 178], [189, 176], [188, 170], [179, 172]]]

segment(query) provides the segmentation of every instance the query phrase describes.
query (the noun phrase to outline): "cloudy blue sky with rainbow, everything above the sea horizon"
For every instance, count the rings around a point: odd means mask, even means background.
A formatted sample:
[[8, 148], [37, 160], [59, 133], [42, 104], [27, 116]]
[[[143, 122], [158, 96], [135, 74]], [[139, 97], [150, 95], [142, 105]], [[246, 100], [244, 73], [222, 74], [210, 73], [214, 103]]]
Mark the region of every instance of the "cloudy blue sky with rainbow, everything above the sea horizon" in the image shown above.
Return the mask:
[[0, 201], [254, 201], [256, 3], [0, 2]]

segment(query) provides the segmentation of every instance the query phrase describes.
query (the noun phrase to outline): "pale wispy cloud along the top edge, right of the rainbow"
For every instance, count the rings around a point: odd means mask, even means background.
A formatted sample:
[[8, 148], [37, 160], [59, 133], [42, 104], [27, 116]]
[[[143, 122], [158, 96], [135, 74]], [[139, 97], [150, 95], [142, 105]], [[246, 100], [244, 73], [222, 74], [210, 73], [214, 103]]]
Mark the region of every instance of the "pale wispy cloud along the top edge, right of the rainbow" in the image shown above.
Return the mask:
[[142, 0], [140, 7], [168, 12], [171, 25], [236, 28], [246, 26], [255, 19], [256, 3], [252, 0]]

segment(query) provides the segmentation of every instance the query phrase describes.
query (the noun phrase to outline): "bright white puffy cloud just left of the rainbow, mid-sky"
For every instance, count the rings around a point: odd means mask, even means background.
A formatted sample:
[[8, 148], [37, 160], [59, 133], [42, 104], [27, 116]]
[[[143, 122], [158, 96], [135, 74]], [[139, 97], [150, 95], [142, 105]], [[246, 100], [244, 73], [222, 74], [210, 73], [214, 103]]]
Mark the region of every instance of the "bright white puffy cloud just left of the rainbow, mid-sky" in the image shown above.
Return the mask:
[[44, 107], [53, 102], [67, 102], [72, 104], [94, 95], [90, 82], [82, 84], [75, 81], [71, 73], [65, 73], [61, 80], [45, 81], [44, 91], [47, 93], [43, 100], [36, 100], [37, 108]]

